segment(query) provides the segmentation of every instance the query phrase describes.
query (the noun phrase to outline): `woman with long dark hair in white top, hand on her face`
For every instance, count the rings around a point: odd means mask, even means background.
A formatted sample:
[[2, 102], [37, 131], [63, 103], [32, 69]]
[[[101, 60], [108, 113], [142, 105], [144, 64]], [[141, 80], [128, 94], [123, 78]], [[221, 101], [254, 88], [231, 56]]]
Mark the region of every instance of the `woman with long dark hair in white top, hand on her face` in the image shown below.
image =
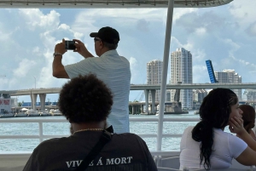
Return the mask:
[[[255, 165], [255, 141], [243, 128], [241, 114], [233, 91], [213, 89], [201, 104], [201, 122], [186, 128], [183, 133], [180, 169], [230, 168], [233, 158], [243, 165]], [[241, 139], [224, 132], [228, 125], [230, 132], [238, 134]]]

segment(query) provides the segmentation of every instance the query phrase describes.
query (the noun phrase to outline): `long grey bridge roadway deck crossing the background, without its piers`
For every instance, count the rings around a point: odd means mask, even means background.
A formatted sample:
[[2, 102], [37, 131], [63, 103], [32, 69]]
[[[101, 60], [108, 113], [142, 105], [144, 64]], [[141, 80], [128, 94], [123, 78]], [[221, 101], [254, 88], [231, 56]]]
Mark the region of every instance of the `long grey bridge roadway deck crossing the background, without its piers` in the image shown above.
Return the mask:
[[[184, 83], [167, 84], [166, 89], [211, 89], [211, 88], [230, 88], [230, 89], [256, 89], [256, 83]], [[131, 90], [154, 90], [160, 89], [158, 85], [131, 84]], [[59, 94], [61, 88], [31, 88], [20, 90], [0, 90], [0, 94], [10, 94], [11, 96], [30, 95], [30, 94]]]

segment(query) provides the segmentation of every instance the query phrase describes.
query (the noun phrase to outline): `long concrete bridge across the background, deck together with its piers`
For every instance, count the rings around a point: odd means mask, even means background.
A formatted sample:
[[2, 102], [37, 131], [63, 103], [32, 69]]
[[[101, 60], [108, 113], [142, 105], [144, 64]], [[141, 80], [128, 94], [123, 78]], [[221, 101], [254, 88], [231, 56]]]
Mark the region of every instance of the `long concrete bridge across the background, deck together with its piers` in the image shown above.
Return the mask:
[[[241, 89], [241, 88], [252, 88], [256, 89], [256, 83], [177, 83], [167, 84], [166, 89], [212, 89], [212, 88], [230, 88], [230, 89]], [[151, 112], [155, 112], [155, 90], [160, 89], [160, 84], [147, 85], [147, 84], [131, 84], [131, 90], [144, 90], [145, 94], [145, 105], [148, 106], [148, 94], [149, 91], [152, 95], [152, 108]], [[20, 90], [0, 90], [0, 94], [9, 94], [10, 96], [30, 95], [32, 100], [32, 109], [36, 110], [37, 97], [39, 95], [41, 111], [45, 109], [45, 98], [46, 94], [59, 94], [61, 88], [31, 88], [31, 89], [20, 89]], [[148, 113], [148, 107], [146, 107], [146, 113]]]

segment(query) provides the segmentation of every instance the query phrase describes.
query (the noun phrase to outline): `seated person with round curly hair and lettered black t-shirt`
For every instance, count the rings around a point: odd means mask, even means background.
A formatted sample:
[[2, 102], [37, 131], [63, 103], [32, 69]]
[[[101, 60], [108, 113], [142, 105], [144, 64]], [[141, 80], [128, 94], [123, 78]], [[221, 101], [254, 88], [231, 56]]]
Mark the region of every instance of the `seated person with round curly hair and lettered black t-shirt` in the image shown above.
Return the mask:
[[[60, 111], [71, 124], [71, 135], [44, 140], [32, 152], [24, 171], [75, 171], [106, 133], [113, 105], [111, 90], [95, 75], [79, 76], [63, 85]], [[157, 171], [146, 143], [136, 134], [111, 134], [88, 171]], [[86, 162], [85, 162], [86, 163]]]

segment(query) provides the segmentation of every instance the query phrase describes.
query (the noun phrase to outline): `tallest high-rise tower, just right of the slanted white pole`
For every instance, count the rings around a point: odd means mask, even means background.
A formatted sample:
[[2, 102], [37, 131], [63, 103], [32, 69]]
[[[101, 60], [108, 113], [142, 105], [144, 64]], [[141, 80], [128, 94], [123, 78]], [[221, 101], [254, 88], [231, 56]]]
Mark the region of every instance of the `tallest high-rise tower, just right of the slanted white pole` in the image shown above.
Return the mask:
[[[171, 54], [171, 84], [192, 83], [192, 54], [184, 49], [177, 48]], [[171, 100], [174, 100], [175, 89], [171, 90]], [[183, 108], [192, 108], [193, 91], [192, 89], [181, 89], [180, 100]]]

